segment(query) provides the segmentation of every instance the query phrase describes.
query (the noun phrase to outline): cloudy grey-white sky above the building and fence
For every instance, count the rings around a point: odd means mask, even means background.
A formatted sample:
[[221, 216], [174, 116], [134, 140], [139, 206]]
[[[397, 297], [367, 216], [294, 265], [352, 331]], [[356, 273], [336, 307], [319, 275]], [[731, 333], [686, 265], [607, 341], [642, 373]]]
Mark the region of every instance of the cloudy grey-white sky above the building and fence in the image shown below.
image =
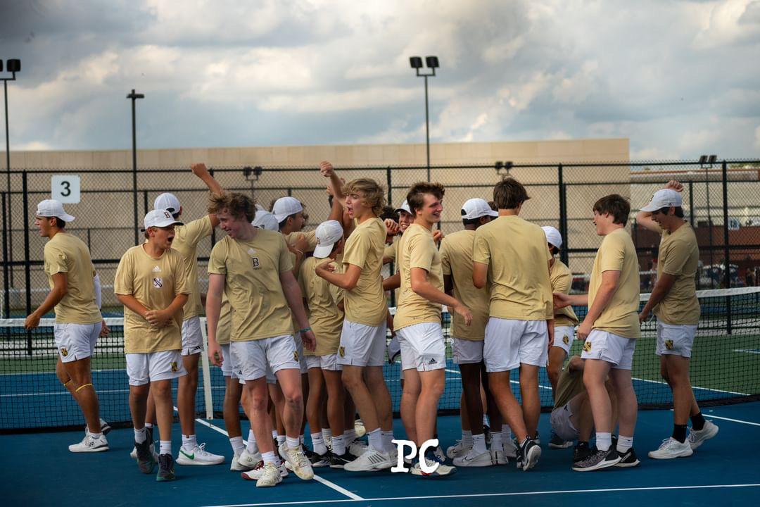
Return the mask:
[[760, 0], [0, 0], [11, 150], [424, 142], [410, 55], [433, 142], [760, 156]]

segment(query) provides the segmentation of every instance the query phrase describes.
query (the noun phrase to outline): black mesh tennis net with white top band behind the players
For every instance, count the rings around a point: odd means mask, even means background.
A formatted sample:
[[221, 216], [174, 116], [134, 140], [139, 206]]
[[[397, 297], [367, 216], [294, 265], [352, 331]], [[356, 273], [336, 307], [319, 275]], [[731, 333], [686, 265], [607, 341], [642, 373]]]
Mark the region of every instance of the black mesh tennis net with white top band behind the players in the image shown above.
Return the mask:
[[[642, 306], [648, 294], [641, 295]], [[701, 318], [692, 350], [691, 378], [701, 404], [749, 401], [760, 395], [760, 287], [698, 291]], [[585, 309], [576, 308], [579, 318]], [[457, 411], [461, 376], [451, 360], [450, 316], [444, 312], [447, 342], [446, 389], [439, 410]], [[43, 319], [39, 328], [27, 332], [23, 318], [0, 320], [0, 431], [81, 426], [84, 419], [74, 399], [55, 374], [58, 350], [53, 337], [53, 319]], [[100, 414], [109, 423], [127, 426], [129, 386], [125, 371], [122, 318], [106, 318], [111, 332], [100, 338], [92, 356], [93, 385], [100, 399]], [[643, 408], [667, 407], [670, 388], [660, 378], [654, 353], [656, 322], [644, 322], [636, 344], [632, 376], [638, 402]], [[571, 353], [580, 353], [575, 341]], [[400, 361], [384, 366], [394, 411], [401, 399]], [[176, 381], [174, 381], [176, 396]], [[517, 372], [512, 388], [519, 398]], [[542, 407], [553, 404], [551, 386], [544, 369], [540, 372]], [[220, 417], [224, 395], [221, 370], [201, 369], [196, 407], [198, 415]]]

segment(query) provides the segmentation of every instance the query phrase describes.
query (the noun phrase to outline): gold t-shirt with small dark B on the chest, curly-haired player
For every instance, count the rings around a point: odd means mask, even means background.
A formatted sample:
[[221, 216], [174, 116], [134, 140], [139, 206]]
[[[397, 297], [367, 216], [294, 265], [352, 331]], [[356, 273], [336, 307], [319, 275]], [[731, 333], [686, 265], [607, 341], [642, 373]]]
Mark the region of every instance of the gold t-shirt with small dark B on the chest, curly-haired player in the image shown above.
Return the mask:
[[230, 341], [251, 341], [293, 333], [280, 273], [293, 270], [282, 234], [256, 230], [249, 241], [223, 237], [211, 250], [209, 274], [225, 275], [232, 307]]

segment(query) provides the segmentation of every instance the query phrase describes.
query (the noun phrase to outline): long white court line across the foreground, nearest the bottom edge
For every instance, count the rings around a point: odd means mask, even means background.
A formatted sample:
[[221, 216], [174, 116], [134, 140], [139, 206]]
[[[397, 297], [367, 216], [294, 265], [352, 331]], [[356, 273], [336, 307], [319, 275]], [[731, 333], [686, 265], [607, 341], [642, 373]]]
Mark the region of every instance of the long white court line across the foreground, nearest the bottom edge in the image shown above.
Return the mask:
[[[443, 498], [477, 498], [493, 496], [533, 496], [533, 495], [559, 495], [567, 493], [615, 493], [629, 491], [664, 491], [664, 490], [709, 490], [719, 488], [746, 488], [758, 487], [758, 484], [707, 484], [699, 486], [652, 486], [636, 488], [605, 488], [600, 490], [555, 490], [555, 491], [521, 491], [515, 493], [473, 493], [472, 495], [435, 495], [435, 496], [391, 496], [388, 498], [366, 498], [364, 502], [387, 502], [391, 500], [428, 500]], [[345, 503], [356, 500], [311, 500], [307, 502], [265, 502], [265, 503], [234, 503], [227, 505], [207, 505], [207, 507], [258, 507], [259, 505], [306, 505], [318, 503]]]

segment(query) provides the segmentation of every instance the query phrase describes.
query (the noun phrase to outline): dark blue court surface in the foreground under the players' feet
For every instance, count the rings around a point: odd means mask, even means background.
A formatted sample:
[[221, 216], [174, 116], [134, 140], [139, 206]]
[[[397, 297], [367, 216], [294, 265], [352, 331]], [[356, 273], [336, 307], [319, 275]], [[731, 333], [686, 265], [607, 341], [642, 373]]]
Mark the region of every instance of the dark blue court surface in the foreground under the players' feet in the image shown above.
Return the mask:
[[[138, 471], [128, 457], [132, 429], [108, 435], [109, 452], [72, 454], [68, 444], [81, 432], [2, 435], [2, 467], [13, 471], [6, 483], [4, 505], [752, 505], [760, 493], [760, 402], [706, 407], [705, 417], [720, 433], [690, 458], [656, 461], [646, 457], [670, 436], [670, 410], [641, 411], [634, 447], [641, 464], [631, 469], [578, 473], [570, 470], [572, 448], [546, 446], [549, 414], [542, 414], [542, 456], [528, 472], [514, 461], [499, 467], [460, 468], [443, 479], [378, 472], [350, 474], [315, 469], [315, 480], [293, 474], [280, 485], [261, 489], [232, 472], [232, 454], [221, 420], [198, 420], [198, 440], [227, 456], [214, 467], [176, 465], [178, 480], [157, 483]], [[404, 435], [394, 420], [397, 437]], [[247, 435], [247, 422], [243, 423]], [[307, 435], [308, 435], [307, 431]], [[179, 449], [175, 424], [173, 450]], [[445, 448], [459, 438], [458, 417], [439, 417], [439, 439]], [[307, 437], [308, 439], [308, 437]]]

